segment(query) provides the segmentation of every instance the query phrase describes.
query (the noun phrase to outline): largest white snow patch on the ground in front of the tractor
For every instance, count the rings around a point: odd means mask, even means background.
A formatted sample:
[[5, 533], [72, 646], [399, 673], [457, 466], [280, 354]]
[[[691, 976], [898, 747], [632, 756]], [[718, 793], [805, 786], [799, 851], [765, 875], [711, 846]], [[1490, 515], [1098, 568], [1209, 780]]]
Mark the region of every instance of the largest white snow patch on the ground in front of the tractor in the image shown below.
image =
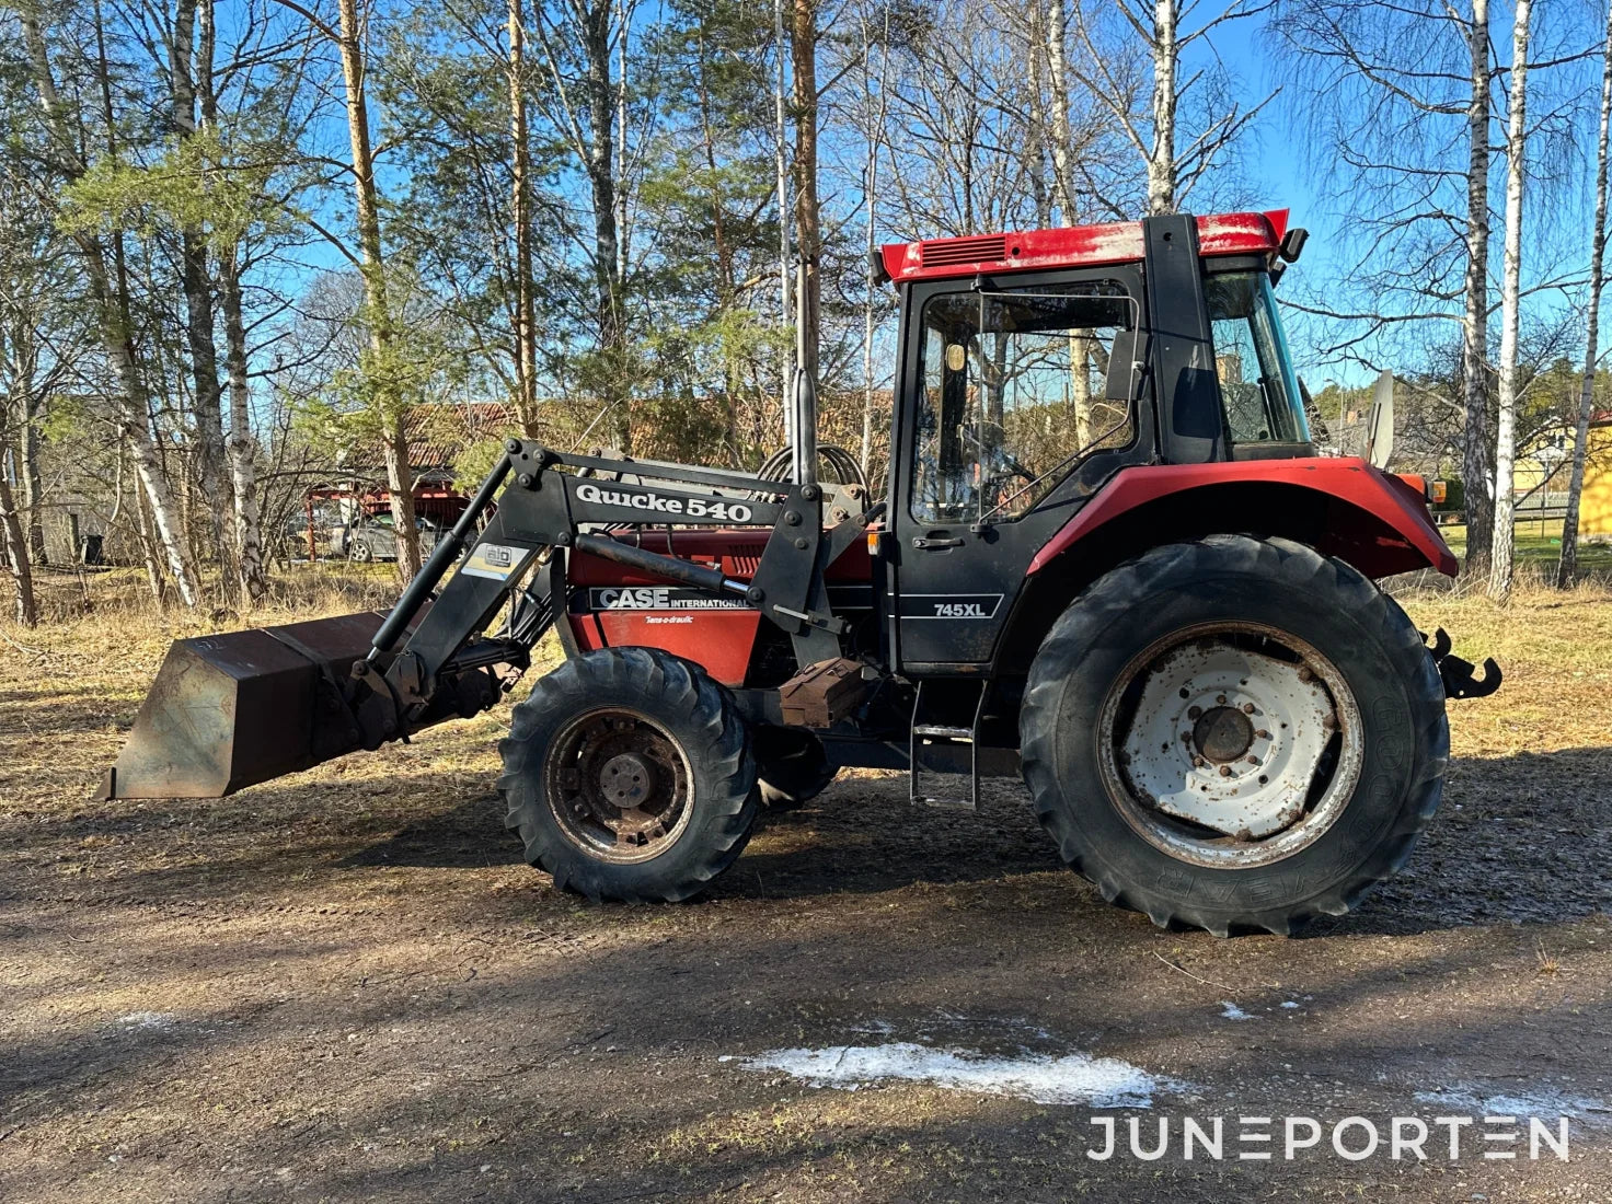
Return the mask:
[[1182, 1086], [1117, 1057], [1053, 1057], [1028, 1051], [987, 1056], [978, 1049], [935, 1048], [911, 1041], [772, 1049], [746, 1059], [745, 1065], [751, 1070], [782, 1070], [812, 1086], [848, 1091], [880, 1082], [933, 1083], [953, 1091], [1091, 1107], [1153, 1107], [1154, 1091], [1175, 1091]]

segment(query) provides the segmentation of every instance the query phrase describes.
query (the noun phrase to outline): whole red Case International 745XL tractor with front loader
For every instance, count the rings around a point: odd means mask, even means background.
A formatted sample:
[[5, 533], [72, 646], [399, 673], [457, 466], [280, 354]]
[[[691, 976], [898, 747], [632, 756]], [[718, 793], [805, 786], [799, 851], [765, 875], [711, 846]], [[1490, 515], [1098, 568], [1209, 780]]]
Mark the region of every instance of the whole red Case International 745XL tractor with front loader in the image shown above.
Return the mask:
[[174, 645], [103, 796], [472, 716], [555, 627], [498, 785], [564, 888], [685, 899], [766, 803], [877, 766], [916, 804], [1022, 774], [1064, 861], [1161, 925], [1346, 912], [1438, 808], [1444, 700], [1499, 671], [1377, 585], [1456, 572], [1420, 482], [1315, 455], [1272, 293], [1302, 242], [1241, 213], [885, 247], [882, 500], [809, 388], [774, 472], [513, 438], [384, 621]]

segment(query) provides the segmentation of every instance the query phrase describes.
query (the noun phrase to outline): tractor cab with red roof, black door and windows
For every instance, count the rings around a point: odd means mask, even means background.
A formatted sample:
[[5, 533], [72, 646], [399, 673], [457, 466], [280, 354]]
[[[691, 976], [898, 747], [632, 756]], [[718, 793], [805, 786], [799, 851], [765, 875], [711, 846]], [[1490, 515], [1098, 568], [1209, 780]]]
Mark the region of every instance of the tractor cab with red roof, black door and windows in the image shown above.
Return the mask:
[[1116, 474], [1314, 455], [1272, 292], [1301, 245], [1277, 211], [883, 248], [906, 671], [991, 662], [1025, 564]]

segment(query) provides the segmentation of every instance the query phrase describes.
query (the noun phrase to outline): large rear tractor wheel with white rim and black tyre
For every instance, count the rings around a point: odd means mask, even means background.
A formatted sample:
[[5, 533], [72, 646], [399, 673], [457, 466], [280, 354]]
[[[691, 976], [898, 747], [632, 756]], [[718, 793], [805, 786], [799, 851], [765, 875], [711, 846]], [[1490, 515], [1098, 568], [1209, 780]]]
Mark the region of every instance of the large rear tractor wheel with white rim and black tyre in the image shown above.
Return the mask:
[[1341, 561], [1241, 535], [1088, 588], [1037, 653], [1020, 740], [1074, 869], [1222, 936], [1349, 911], [1409, 856], [1449, 756], [1404, 611]]

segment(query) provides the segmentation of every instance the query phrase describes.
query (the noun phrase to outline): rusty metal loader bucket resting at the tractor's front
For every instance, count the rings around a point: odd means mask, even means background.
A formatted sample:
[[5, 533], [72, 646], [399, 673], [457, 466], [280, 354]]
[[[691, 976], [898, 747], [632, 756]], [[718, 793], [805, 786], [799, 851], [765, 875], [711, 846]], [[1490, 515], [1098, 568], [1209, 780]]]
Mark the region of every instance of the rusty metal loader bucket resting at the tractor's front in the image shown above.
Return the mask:
[[382, 617], [177, 640], [97, 796], [222, 798], [359, 748], [339, 683]]

